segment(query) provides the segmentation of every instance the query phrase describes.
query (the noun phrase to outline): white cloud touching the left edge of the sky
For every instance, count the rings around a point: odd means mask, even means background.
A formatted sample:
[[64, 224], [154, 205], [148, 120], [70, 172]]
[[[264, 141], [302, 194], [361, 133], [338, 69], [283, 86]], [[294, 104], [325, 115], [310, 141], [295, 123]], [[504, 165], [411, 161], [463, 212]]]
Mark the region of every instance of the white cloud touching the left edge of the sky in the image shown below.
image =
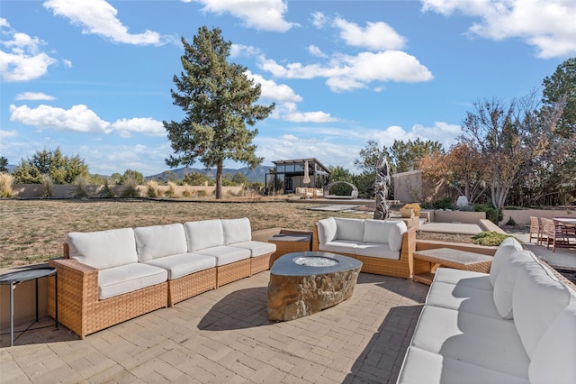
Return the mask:
[[[42, 52], [46, 42], [26, 33], [15, 32], [6, 19], [0, 19], [2, 41], [0, 45], [0, 73], [4, 81], [29, 81], [48, 72], [57, 60]], [[4, 50], [5, 49], [5, 50]]]

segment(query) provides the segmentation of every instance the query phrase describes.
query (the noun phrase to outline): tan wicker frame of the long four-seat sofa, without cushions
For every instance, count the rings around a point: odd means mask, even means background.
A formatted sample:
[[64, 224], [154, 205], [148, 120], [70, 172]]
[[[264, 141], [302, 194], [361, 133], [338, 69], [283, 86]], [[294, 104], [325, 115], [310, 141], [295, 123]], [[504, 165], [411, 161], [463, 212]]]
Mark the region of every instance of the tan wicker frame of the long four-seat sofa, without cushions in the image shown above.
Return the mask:
[[[269, 270], [273, 252], [220, 267], [201, 270], [178, 279], [105, 299], [99, 298], [98, 270], [64, 256], [49, 261], [58, 270], [58, 321], [84, 339], [112, 325], [120, 324], [159, 308], [174, 306], [224, 284]], [[48, 315], [55, 317], [55, 284], [48, 281]], [[52, 298], [51, 298], [52, 297]]]

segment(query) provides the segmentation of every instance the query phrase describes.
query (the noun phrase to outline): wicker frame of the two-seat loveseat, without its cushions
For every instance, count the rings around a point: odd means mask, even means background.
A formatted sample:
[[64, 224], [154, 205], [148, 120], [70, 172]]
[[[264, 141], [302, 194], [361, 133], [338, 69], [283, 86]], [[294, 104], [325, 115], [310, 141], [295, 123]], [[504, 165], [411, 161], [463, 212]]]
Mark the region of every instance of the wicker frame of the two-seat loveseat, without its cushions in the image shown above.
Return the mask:
[[[312, 251], [319, 251], [319, 245], [318, 226], [314, 225], [314, 231], [312, 233]], [[334, 253], [362, 261], [362, 272], [410, 279], [413, 274], [424, 273], [427, 268], [426, 262], [414, 260], [412, 257], [414, 251], [416, 251], [416, 228], [409, 228], [408, 231], [402, 235], [402, 247], [399, 260], [358, 256], [344, 252]]]

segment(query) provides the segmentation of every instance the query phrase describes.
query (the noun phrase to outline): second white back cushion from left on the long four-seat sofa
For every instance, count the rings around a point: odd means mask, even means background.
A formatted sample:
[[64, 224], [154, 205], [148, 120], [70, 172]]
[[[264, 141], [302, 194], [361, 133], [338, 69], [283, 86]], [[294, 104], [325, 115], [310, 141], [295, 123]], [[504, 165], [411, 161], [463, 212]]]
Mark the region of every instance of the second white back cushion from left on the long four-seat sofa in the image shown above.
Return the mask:
[[141, 226], [134, 237], [140, 262], [188, 251], [183, 224]]

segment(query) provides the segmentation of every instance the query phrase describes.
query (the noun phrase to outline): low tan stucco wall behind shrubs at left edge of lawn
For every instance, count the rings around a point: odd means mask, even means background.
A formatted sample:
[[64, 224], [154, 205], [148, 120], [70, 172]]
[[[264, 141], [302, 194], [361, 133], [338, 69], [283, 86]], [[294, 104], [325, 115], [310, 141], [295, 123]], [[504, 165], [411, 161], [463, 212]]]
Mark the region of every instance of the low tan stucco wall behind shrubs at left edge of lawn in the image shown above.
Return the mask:
[[[86, 186], [85, 191], [87, 197], [98, 197], [98, 194], [103, 190], [102, 186]], [[112, 190], [112, 193], [115, 196], [121, 196], [122, 192], [126, 188], [125, 186], [109, 186]], [[148, 186], [138, 186], [136, 187], [139, 192], [140, 197], [148, 197]], [[169, 186], [157, 186], [155, 187], [158, 193], [158, 196], [164, 196], [166, 191], [170, 190]], [[188, 194], [190, 197], [198, 196], [199, 191], [203, 191], [202, 194], [206, 196], [211, 196], [214, 194], [216, 187], [214, 186], [175, 186], [175, 195], [174, 197], [183, 197], [185, 194]], [[244, 187], [222, 187], [222, 194], [224, 196], [233, 194], [238, 195]], [[12, 190], [14, 192], [15, 197], [21, 198], [37, 198], [41, 197], [42, 192], [44, 190], [44, 186], [41, 184], [14, 184], [12, 186]], [[52, 186], [53, 196], [54, 198], [70, 198], [76, 197], [76, 186], [69, 185], [69, 184], [55, 184]]]

